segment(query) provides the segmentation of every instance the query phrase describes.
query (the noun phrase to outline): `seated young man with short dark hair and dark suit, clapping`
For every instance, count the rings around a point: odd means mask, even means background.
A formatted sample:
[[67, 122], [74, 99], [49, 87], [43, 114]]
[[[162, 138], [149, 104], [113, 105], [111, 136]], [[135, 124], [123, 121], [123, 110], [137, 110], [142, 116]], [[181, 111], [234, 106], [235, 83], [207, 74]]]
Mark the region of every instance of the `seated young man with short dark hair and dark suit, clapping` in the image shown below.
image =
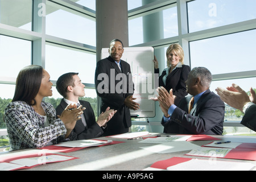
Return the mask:
[[64, 75], [61, 75], [56, 82], [57, 91], [64, 97], [61, 100], [60, 105], [56, 107], [56, 115], [60, 115], [69, 104], [79, 104], [86, 108], [84, 113], [81, 115], [81, 119], [76, 122], [75, 128], [69, 135], [69, 139], [71, 140], [100, 137], [104, 134], [103, 127], [106, 126], [106, 123], [116, 112], [114, 110], [110, 110], [108, 107], [104, 113], [99, 115], [96, 122], [90, 103], [79, 100], [79, 97], [85, 96], [84, 88], [85, 85], [82, 84], [78, 73], [65, 73]]

